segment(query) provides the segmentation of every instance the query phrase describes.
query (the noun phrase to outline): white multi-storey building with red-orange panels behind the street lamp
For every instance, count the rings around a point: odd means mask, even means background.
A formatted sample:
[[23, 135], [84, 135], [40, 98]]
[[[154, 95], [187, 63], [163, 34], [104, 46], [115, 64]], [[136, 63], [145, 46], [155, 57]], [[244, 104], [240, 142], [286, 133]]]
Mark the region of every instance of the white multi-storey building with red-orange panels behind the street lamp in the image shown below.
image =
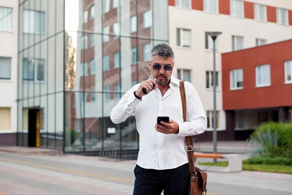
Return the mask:
[[174, 75], [191, 81], [197, 89], [209, 121], [206, 131], [210, 134], [205, 135], [211, 140], [213, 40], [205, 33], [222, 33], [216, 40], [216, 104], [217, 129], [225, 131], [220, 54], [291, 39], [292, 1], [170, 0], [168, 13], [169, 44], [176, 59]]

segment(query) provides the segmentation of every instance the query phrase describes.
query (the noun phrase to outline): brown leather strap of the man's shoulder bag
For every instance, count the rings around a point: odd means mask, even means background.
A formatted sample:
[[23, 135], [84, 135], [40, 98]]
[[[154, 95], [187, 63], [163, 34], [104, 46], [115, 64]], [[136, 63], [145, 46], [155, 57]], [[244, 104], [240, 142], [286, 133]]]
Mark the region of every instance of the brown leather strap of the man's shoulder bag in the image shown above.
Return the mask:
[[[182, 98], [182, 107], [183, 107], [183, 122], [187, 121], [186, 118], [186, 97], [185, 97], [185, 90], [184, 90], [184, 80], [180, 81], [180, 92]], [[186, 143], [186, 150], [187, 150], [187, 157], [190, 166], [190, 172], [195, 173], [195, 161], [194, 161], [194, 151], [193, 151], [193, 137], [187, 136], [185, 137]]]

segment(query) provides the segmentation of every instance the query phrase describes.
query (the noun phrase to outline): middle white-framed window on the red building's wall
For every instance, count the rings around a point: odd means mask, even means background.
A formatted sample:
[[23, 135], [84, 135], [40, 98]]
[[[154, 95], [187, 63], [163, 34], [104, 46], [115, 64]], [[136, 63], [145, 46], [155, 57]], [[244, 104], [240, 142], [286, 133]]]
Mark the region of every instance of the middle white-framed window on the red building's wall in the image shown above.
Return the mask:
[[271, 85], [270, 64], [256, 66], [256, 86], [263, 87]]

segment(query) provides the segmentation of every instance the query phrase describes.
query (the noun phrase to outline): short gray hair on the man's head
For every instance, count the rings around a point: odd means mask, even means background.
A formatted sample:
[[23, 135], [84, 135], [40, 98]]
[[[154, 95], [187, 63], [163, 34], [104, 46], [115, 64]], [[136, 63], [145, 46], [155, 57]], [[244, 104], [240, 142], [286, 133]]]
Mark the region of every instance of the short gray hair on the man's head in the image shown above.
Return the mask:
[[166, 45], [165, 43], [157, 44], [152, 48], [149, 55], [149, 61], [152, 61], [155, 55], [163, 58], [171, 57], [172, 62], [174, 63], [174, 53], [171, 47], [169, 45]]

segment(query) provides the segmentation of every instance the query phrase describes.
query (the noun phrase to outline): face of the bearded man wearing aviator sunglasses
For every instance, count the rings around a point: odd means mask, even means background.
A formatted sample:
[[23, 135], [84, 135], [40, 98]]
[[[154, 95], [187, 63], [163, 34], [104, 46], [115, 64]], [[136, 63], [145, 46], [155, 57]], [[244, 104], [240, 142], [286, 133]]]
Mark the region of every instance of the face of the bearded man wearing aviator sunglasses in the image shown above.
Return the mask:
[[157, 85], [165, 85], [170, 80], [172, 75], [174, 63], [172, 58], [163, 58], [157, 55], [154, 56], [154, 59], [149, 62], [149, 69], [152, 78], [157, 78]]

